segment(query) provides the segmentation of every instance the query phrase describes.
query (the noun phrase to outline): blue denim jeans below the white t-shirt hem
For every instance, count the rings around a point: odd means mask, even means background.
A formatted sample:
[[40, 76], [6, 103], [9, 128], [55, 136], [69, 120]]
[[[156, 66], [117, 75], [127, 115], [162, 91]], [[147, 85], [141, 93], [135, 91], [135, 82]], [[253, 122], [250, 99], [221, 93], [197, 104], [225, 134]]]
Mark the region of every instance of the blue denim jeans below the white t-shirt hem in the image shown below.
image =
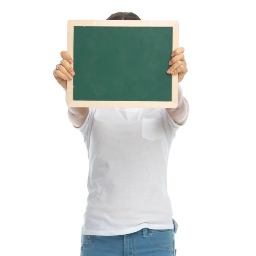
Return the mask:
[[143, 228], [137, 232], [119, 236], [81, 235], [80, 256], [175, 256], [174, 229], [152, 230]]

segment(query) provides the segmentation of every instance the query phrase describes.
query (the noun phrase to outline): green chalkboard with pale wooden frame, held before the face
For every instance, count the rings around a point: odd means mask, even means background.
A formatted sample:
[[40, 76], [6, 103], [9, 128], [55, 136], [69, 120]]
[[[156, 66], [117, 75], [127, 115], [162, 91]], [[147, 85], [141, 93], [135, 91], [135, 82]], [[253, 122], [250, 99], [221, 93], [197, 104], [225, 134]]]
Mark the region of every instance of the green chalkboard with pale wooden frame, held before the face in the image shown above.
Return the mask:
[[177, 75], [166, 70], [177, 48], [177, 26], [177, 21], [69, 20], [68, 52], [76, 75], [68, 81], [68, 105], [175, 108]]

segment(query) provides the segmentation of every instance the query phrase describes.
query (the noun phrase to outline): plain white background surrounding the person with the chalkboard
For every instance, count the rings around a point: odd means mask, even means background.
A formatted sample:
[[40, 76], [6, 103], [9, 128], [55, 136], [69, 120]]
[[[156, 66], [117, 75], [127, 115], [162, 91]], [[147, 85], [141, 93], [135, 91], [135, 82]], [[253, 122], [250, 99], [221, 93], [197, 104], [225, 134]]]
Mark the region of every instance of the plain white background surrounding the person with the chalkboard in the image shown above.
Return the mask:
[[[52, 71], [67, 20], [178, 20], [190, 104], [169, 160], [177, 256], [255, 256], [253, 1], [12, 1], [1, 6], [0, 255], [78, 256], [87, 151]], [[104, 69], [104, 67], [102, 67]], [[99, 70], [100, 72], [100, 70]]]

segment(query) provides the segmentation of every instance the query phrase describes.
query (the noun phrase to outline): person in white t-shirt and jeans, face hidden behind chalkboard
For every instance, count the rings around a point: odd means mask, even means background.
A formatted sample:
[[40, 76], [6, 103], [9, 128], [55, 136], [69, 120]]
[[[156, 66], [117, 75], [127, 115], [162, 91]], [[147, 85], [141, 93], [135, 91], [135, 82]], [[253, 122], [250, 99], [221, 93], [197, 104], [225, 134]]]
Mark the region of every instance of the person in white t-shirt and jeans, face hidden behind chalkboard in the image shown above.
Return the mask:
[[[108, 20], [140, 18], [119, 12]], [[172, 53], [167, 70], [178, 73], [179, 82], [187, 73], [183, 52], [181, 47]], [[68, 52], [61, 52], [61, 57], [53, 73], [66, 91], [75, 71]], [[172, 140], [188, 114], [180, 85], [175, 109], [68, 108], [89, 157], [81, 256], [176, 254], [177, 223], [172, 219], [166, 172]]]

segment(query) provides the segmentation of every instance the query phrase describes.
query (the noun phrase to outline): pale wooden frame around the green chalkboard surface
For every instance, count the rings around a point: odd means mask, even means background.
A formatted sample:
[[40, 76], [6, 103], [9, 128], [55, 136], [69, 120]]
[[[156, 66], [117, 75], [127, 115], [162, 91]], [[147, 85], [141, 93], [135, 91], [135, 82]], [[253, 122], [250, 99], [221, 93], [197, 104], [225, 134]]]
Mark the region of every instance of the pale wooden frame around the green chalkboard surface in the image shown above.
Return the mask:
[[[177, 20], [68, 20], [67, 24], [67, 51], [74, 59], [74, 26], [138, 26], [138, 27], [172, 27], [172, 51], [179, 44], [179, 23]], [[171, 56], [170, 56], [171, 58]], [[178, 104], [178, 75], [172, 76], [172, 101], [169, 102], [139, 102], [139, 101], [81, 101], [73, 100], [73, 80], [67, 81], [67, 105], [69, 107], [92, 108], [176, 108]]]

